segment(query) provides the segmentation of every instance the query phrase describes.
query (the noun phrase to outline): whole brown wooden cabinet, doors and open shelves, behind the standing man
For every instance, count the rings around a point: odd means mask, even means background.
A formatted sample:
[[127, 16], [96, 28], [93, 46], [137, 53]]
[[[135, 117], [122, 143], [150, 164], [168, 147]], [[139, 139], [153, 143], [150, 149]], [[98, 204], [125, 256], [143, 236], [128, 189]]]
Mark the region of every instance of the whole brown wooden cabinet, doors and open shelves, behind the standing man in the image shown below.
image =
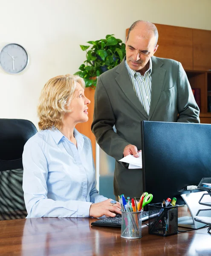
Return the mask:
[[182, 63], [192, 89], [199, 93], [200, 122], [211, 124], [211, 31], [155, 25], [159, 33], [155, 56]]

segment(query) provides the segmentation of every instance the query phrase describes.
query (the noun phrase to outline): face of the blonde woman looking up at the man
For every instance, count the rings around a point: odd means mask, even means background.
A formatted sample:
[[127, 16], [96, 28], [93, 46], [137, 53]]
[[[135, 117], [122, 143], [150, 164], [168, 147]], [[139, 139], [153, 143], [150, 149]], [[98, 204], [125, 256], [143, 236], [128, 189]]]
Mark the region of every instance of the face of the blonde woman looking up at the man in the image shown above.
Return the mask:
[[88, 121], [88, 107], [90, 100], [84, 95], [84, 89], [81, 84], [77, 83], [75, 96], [70, 102], [68, 107], [71, 110], [68, 116], [74, 123], [87, 122]]

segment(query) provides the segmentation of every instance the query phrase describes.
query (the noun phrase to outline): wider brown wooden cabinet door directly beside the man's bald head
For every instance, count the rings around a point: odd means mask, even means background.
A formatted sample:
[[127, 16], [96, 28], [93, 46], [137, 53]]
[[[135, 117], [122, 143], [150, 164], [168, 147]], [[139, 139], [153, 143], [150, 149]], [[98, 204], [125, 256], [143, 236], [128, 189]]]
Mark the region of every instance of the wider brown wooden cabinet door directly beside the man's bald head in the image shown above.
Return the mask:
[[193, 70], [193, 29], [155, 25], [159, 34], [155, 56], [171, 58], [181, 62], [185, 70]]

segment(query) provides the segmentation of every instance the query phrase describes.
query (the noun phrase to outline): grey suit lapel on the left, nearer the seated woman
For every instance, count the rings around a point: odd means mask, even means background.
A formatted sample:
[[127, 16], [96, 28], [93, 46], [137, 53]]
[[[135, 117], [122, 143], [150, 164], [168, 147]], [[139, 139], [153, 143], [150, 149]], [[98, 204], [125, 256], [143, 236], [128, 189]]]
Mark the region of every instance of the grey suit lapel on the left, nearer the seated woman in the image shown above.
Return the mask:
[[147, 113], [139, 101], [139, 98], [136, 96], [135, 91], [133, 90], [133, 84], [130, 80], [130, 76], [128, 74], [127, 68], [125, 67], [124, 61], [125, 58], [119, 64], [119, 67], [116, 70], [118, 73], [116, 76], [116, 81], [130, 102], [147, 118]]

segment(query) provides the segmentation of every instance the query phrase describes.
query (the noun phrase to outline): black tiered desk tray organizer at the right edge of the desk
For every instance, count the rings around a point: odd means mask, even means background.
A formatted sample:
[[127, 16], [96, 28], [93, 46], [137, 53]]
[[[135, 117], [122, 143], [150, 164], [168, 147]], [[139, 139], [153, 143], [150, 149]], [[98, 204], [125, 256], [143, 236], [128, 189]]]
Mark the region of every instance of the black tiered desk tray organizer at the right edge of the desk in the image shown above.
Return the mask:
[[[208, 193], [203, 194], [199, 200], [199, 204], [210, 207], [209, 209], [199, 209], [194, 218], [195, 221], [209, 225], [208, 232], [211, 230], [211, 187], [204, 186], [204, 183], [211, 184], [211, 178], [202, 178], [198, 188], [206, 190]], [[197, 218], [199, 217], [199, 218]], [[202, 217], [202, 218], [200, 218]], [[205, 218], [203, 218], [205, 217]]]

